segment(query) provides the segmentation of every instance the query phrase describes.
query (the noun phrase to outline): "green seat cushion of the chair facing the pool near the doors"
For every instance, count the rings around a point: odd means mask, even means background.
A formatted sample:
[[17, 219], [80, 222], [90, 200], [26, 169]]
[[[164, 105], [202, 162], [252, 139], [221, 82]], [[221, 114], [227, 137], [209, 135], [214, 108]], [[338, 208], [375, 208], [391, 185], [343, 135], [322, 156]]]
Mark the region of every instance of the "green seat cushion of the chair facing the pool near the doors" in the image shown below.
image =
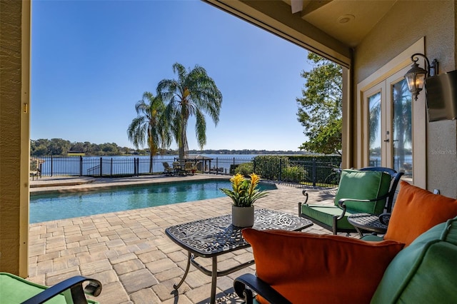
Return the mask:
[[[341, 216], [343, 210], [336, 206], [322, 206], [322, 205], [301, 205], [301, 213], [314, 220], [324, 223], [333, 227], [333, 216]], [[346, 209], [346, 216], [336, 223], [338, 229], [354, 229], [347, 219], [347, 216], [353, 213], [360, 213], [360, 211], [352, 211]]]

